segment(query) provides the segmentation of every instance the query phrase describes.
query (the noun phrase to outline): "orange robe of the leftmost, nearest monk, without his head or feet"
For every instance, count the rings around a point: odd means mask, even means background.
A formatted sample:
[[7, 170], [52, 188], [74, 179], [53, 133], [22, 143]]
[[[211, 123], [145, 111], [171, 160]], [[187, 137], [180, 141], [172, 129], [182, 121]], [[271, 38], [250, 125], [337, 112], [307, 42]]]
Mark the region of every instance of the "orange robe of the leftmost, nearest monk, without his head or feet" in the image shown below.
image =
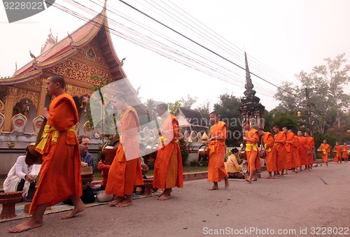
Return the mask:
[[[74, 130], [77, 122], [76, 104], [69, 94], [60, 94], [50, 103], [45, 129], [51, 131], [44, 131], [48, 141], [43, 150], [36, 148], [43, 155], [43, 163], [29, 215], [40, 204], [52, 206], [69, 199], [69, 196], [79, 198], [83, 195], [79, 143]], [[57, 141], [52, 138], [54, 134], [58, 135]]]

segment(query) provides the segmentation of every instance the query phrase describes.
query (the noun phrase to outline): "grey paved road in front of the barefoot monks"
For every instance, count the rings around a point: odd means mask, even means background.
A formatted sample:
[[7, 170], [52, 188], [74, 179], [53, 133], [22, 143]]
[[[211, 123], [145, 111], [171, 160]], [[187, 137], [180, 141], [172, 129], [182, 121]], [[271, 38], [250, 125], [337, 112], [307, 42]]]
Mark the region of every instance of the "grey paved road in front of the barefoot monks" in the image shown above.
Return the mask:
[[4, 222], [0, 236], [344, 236], [350, 234], [349, 174], [350, 162], [252, 184], [230, 180], [228, 189], [221, 182], [214, 191], [207, 180], [188, 181], [167, 201], [96, 206], [71, 220], [45, 215], [43, 227], [22, 234], [7, 233], [22, 220]]

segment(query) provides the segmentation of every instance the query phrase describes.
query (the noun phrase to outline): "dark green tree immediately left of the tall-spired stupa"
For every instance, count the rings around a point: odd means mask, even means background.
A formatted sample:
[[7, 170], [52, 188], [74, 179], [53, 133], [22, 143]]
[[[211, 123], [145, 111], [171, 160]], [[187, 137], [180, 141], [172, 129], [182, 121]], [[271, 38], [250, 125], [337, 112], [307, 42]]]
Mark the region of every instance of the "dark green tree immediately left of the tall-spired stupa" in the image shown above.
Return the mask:
[[233, 94], [222, 94], [220, 101], [214, 104], [214, 110], [219, 114], [220, 120], [228, 124], [228, 139], [226, 145], [238, 146], [242, 140], [241, 114], [238, 111], [241, 99]]

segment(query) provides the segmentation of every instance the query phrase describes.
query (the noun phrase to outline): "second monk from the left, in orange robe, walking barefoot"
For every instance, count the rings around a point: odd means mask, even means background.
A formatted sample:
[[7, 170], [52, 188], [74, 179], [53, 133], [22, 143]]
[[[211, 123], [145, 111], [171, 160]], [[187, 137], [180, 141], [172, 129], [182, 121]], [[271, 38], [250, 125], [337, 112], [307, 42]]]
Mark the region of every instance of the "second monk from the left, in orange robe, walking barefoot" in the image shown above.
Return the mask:
[[123, 114], [116, 122], [121, 135], [105, 192], [116, 195], [116, 199], [109, 202], [110, 206], [123, 208], [132, 204], [134, 187], [144, 185], [138, 138], [140, 123], [137, 111], [127, 104], [125, 94], [116, 94], [113, 103]]

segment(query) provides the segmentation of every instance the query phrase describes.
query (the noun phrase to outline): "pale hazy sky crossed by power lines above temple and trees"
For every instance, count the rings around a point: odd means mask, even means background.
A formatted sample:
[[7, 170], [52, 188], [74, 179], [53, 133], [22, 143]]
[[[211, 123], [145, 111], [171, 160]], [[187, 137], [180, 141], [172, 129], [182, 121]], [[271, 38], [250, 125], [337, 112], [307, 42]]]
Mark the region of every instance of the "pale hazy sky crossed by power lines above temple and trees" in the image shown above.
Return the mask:
[[[100, 1], [94, 0], [100, 6], [87, 0], [79, 3], [99, 13], [102, 10]], [[244, 50], [248, 54], [251, 72], [277, 86], [286, 80], [297, 83], [295, 74], [302, 70], [311, 71], [313, 66], [324, 64], [323, 59], [327, 57], [334, 58], [343, 52], [346, 53], [346, 58], [350, 55], [350, 1], [346, 0], [125, 1], [221, 55], [218, 57], [188, 39], [174, 34], [120, 1], [107, 1], [107, 16], [110, 18], [111, 29], [123, 36], [129, 35], [130, 30], [116, 25], [121, 23], [164, 43], [178, 55], [179, 52], [181, 55], [186, 54], [187, 59], [181, 59], [170, 53], [185, 64], [191, 64], [191, 67], [184, 66], [131, 43], [129, 36], [129, 40], [125, 40], [112, 34], [118, 57], [127, 57], [123, 69], [135, 89], [141, 86], [139, 96], [143, 101], [154, 99], [174, 102], [190, 94], [198, 98], [195, 106], [205, 101], [209, 101], [213, 106], [218, 102], [218, 96], [225, 92], [243, 96], [245, 72], [235, 64], [244, 67]], [[66, 1], [56, 0], [56, 3], [79, 11], [76, 6], [71, 6]], [[81, 13], [90, 19], [95, 15], [94, 12]], [[173, 16], [172, 13], [176, 15]], [[125, 20], [122, 14], [128, 20]], [[158, 35], [155, 36], [132, 22], [144, 23], [157, 31]], [[30, 62], [29, 50], [34, 55], [39, 55], [50, 29], [52, 34], [58, 34], [58, 40], [61, 40], [66, 37], [67, 31], [71, 33], [82, 24], [85, 24], [83, 20], [78, 20], [55, 7], [9, 24], [1, 4], [0, 76], [12, 76], [15, 62], [18, 69]], [[195, 35], [196, 30], [202, 32], [204, 37]], [[160, 34], [171, 38], [176, 45], [162, 39]], [[214, 37], [223, 37], [225, 41]], [[214, 39], [209, 42], [209, 38]], [[146, 43], [145, 39], [144, 42]], [[180, 48], [181, 44], [183, 48], [190, 48], [191, 52]], [[153, 43], [147, 42], [146, 45]], [[200, 70], [209, 71], [216, 76], [193, 69], [196, 67], [194, 65], [198, 65], [195, 64], [198, 60], [206, 64], [200, 66]], [[209, 70], [210, 67], [214, 69]], [[221, 76], [218, 76], [218, 73], [221, 73]], [[255, 76], [251, 78], [262, 105], [267, 110], [274, 108], [278, 104], [273, 98], [276, 87]]]

